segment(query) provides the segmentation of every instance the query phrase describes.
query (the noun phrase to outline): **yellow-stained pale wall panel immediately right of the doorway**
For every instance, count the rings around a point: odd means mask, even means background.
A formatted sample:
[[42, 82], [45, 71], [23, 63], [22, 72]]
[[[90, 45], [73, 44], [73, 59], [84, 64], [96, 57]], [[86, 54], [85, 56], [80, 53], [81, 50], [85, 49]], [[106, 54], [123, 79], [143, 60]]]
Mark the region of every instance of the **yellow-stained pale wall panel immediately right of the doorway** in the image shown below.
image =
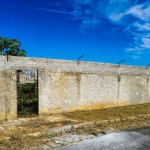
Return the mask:
[[39, 71], [39, 109], [41, 113], [55, 113], [77, 109], [78, 88], [76, 75], [73, 73], [56, 73]]

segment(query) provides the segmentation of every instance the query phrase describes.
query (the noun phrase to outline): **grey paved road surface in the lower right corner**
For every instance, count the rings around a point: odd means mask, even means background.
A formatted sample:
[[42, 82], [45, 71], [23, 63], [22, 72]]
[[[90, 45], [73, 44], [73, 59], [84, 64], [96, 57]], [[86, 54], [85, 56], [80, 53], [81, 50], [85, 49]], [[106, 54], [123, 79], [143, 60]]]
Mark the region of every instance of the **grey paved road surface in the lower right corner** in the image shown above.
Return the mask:
[[150, 128], [112, 133], [55, 150], [148, 150]]

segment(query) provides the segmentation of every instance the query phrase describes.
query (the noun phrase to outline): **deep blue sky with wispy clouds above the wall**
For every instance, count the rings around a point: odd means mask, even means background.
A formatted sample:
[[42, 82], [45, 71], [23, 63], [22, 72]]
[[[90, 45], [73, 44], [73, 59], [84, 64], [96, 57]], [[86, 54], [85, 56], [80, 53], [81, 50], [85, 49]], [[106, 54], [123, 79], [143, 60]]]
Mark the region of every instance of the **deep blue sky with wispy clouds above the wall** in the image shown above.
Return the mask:
[[29, 57], [150, 64], [149, 0], [1, 0], [0, 36]]

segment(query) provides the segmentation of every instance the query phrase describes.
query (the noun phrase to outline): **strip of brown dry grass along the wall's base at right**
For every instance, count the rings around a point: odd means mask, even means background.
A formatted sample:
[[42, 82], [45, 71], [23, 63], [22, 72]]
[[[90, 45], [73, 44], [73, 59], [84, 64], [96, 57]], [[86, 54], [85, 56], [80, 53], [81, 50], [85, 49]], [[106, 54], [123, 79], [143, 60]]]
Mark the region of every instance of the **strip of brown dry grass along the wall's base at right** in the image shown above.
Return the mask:
[[138, 116], [142, 114], [150, 114], [150, 103], [88, 111], [73, 111], [64, 113], [63, 115], [78, 121], [97, 121]]

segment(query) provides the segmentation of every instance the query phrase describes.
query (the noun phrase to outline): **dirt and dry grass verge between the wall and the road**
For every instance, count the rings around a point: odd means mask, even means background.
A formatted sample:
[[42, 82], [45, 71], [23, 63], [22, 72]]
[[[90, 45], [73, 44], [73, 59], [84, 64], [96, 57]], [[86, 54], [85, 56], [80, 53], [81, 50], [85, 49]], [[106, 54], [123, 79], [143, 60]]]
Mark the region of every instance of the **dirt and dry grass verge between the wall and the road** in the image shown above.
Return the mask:
[[[0, 149], [1, 150], [19, 150], [28, 149], [29, 146], [46, 143], [44, 140], [60, 135], [39, 134], [39, 136], [28, 136], [30, 133], [42, 133], [51, 127], [61, 127], [63, 125], [78, 124], [82, 122], [95, 122], [100, 120], [111, 120], [116, 118], [126, 118], [129, 116], [138, 116], [150, 114], [150, 104], [136, 106], [115, 107], [106, 109], [97, 109], [89, 111], [74, 111], [57, 115], [38, 116], [35, 118], [19, 118], [14, 121], [0, 123]], [[124, 130], [131, 125], [130, 122], [116, 123], [110, 128]], [[135, 123], [135, 126], [142, 127], [143, 123]], [[107, 129], [107, 127], [105, 127]], [[94, 133], [97, 129], [88, 129], [80, 131], [83, 133]], [[72, 133], [71, 133], [72, 134]], [[74, 134], [74, 133], [73, 133]], [[78, 133], [76, 133], [78, 134]]]

